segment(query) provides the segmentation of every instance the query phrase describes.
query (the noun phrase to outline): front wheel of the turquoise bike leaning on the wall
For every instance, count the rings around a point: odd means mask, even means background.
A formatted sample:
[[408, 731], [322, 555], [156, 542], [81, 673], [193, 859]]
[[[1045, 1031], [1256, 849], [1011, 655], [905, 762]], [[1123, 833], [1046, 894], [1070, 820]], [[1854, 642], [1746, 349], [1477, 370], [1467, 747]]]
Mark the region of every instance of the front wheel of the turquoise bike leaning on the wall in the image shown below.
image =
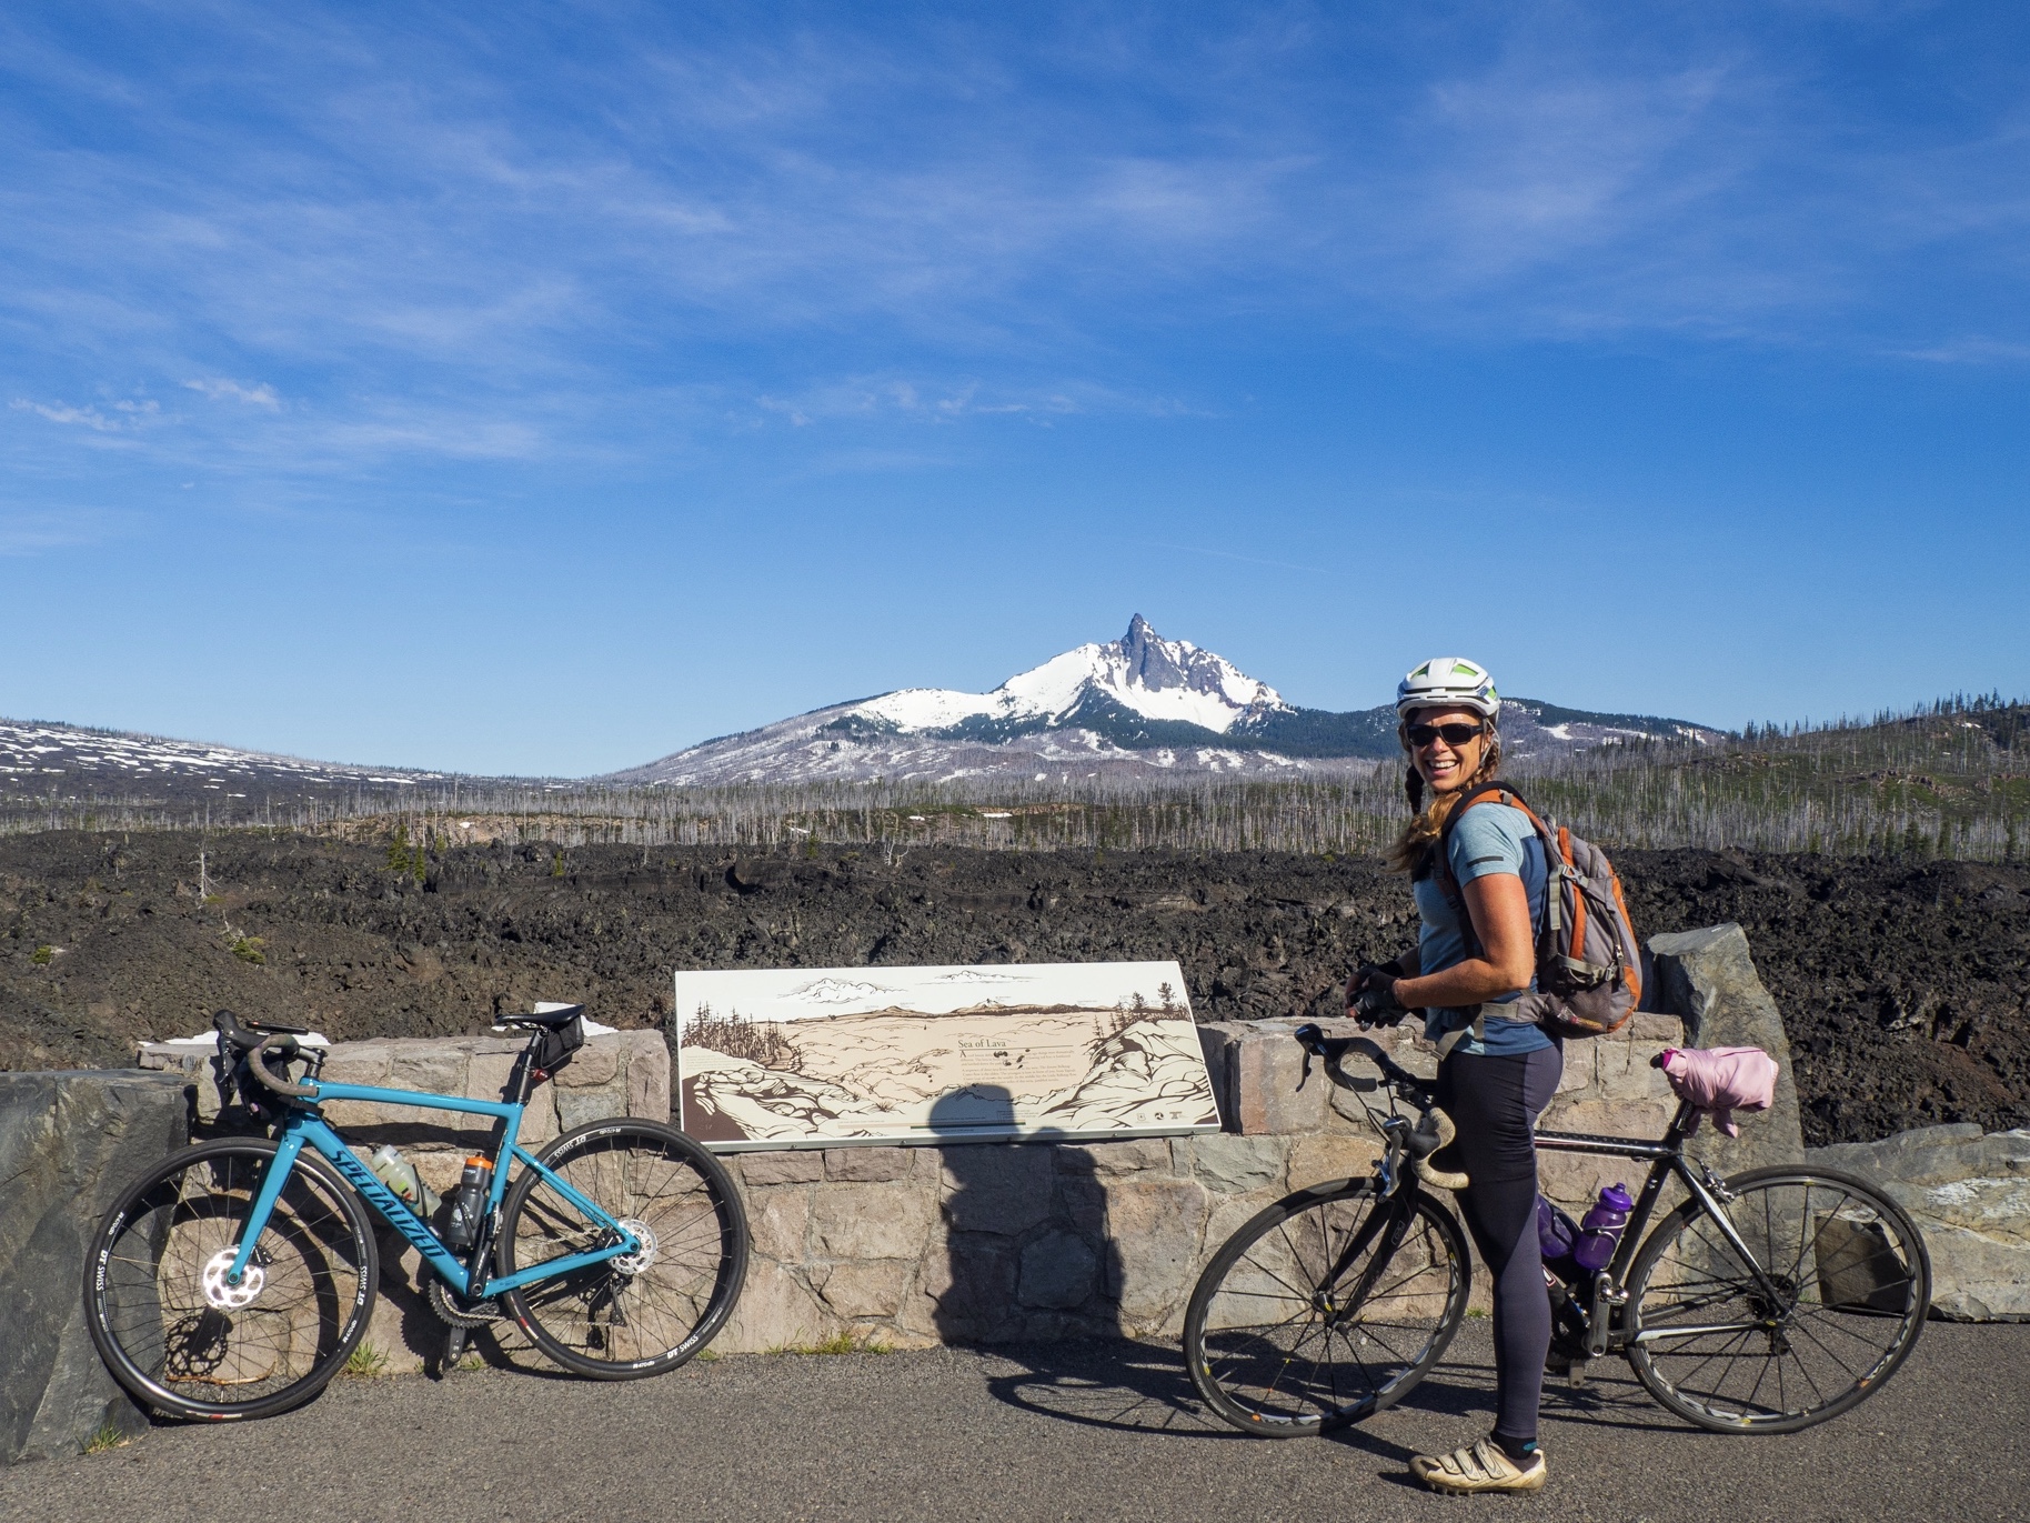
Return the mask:
[[371, 1222], [315, 1153], [296, 1157], [250, 1283], [219, 1277], [274, 1153], [258, 1137], [199, 1143], [148, 1170], [99, 1220], [85, 1326], [114, 1379], [154, 1411], [272, 1417], [325, 1389], [365, 1334], [380, 1287]]

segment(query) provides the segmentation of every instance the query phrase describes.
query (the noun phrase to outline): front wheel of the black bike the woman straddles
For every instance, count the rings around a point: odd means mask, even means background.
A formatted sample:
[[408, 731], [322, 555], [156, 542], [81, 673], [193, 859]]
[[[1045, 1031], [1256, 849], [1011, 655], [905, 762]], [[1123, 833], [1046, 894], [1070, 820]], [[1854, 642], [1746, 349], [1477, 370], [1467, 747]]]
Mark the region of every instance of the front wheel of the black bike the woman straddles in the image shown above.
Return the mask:
[[[1443, 1356], [1474, 1271], [1458, 1220], [1425, 1194], [1362, 1316], [1326, 1322], [1332, 1287], [1317, 1281], [1374, 1206], [1372, 1180], [1317, 1184], [1250, 1216], [1212, 1255], [1183, 1314], [1183, 1356], [1226, 1423], [1261, 1438], [1346, 1428], [1401, 1401]], [[1340, 1283], [1358, 1281], [1384, 1241], [1386, 1231]]]

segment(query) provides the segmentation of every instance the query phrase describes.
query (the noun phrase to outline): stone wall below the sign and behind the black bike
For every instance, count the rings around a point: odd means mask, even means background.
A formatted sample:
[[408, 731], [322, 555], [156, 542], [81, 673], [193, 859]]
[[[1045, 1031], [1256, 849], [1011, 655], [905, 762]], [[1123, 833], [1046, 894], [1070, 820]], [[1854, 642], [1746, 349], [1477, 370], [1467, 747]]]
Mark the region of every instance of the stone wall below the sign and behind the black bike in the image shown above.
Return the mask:
[[[1305, 1184], [1374, 1166], [1376, 1133], [1358, 1099], [1315, 1066], [1299, 1088], [1297, 1025], [1200, 1028], [1224, 1133], [729, 1157], [755, 1255], [715, 1346], [1177, 1336], [1200, 1269], [1240, 1222]], [[1419, 1030], [1370, 1036], [1411, 1072], [1433, 1072]], [[1677, 1017], [1638, 1015], [1618, 1036], [1567, 1044], [1545, 1125], [1661, 1135], [1677, 1103], [1648, 1060], [1681, 1040]], [[1579, 1210], [1628, 1174], [1626, 1162], [1545, 1155], [1547, 1192]], [[1476, 1304], [1486, 1306], [1484, 1271]]]

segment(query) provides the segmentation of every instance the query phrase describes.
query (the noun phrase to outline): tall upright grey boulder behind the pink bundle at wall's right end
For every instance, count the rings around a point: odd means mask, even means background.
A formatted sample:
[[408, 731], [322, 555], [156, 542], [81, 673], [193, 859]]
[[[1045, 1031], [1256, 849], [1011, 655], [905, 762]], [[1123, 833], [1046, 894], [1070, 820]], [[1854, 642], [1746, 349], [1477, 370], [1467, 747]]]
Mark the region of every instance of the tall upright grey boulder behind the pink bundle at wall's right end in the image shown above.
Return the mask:
[[[1701, 1048], [1762, 1048], [1776, 1060], [1776, 1103], [1762, 1115], [1740, 1115], [1742, 1135], [1719, 1137], [1701, 1129], [1701, 1157], [1734, 1174], [1768, 1164], [1799, 1164], [1805, 1133], [1790, 1072], [1790, 1040], [1782, 1030], [1776, 1001], [1748, 954], [1748, 936], [1728, 922], [1705, 930], [1683, 930], [1650, 938], [1656, 967], [1656, 1003], [1685, 1021], [1685, 1032]], [[1717, 1143], [1711, 1141], [1719, 1137]]]

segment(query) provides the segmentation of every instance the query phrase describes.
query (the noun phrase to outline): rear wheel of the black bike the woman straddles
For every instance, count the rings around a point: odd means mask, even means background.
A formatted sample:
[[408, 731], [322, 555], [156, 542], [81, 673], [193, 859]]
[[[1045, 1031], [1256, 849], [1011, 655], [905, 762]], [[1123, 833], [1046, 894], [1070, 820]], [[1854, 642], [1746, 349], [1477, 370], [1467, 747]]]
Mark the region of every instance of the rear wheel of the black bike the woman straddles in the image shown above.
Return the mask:
[[1795, 1434], [1866, 1401], [1910, 1354], [1931, 1257], [1894, 1200], [1845, 1174], [1764, 1168], [1725, 1184], [1728, 1220], [1782, 1300], [1687, 1200], [1628, 1271], [1628, 1363], [1699, 1428]]

